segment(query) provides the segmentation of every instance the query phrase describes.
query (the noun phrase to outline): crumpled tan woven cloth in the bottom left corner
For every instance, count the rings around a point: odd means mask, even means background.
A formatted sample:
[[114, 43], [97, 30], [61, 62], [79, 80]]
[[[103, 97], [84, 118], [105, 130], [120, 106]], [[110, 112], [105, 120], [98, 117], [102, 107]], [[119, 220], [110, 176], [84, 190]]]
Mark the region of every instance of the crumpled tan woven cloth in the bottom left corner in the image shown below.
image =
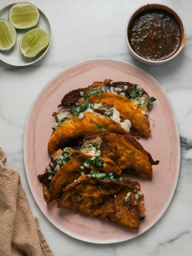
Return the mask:
[[4, 166], [0, 148], [0, 255], [53, 256], [34, 218], [20, 175]]

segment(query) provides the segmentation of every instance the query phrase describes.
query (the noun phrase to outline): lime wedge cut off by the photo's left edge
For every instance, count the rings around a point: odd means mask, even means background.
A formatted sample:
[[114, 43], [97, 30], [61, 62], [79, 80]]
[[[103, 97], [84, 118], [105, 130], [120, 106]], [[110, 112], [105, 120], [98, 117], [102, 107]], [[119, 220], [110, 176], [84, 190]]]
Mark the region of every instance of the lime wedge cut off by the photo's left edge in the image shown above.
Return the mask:
[[8, 51], [16, 43], [17, 34], [8, 20], [0, 20], [0, 50]]

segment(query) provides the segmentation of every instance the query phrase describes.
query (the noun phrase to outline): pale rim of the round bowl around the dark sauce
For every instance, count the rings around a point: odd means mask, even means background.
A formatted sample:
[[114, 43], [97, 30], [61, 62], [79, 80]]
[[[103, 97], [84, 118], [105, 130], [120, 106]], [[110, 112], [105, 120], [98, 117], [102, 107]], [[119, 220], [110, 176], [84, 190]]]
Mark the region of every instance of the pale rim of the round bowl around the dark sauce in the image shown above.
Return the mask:
[[[183, 39], [179, 45], [179, 47], [177, 48], [177, 51], [174, 52], [170, 57], [164, 59], [164, 60], [148, 60], [148, 59], [145, 59], [143, 57], [141, 57], [139, 54], [137, 54], [131, 47], [131, 44], [129, 43], [129, 39], [128, 39], [128, 27], [130, 25], [130, 21], [132, 20], [132, 17], [137, 13], [139, 12], [140, 10], [142, 9], [145, 9], [147, 6], [150, 6], [150, 5], [156, 5], [157, 7], [164, 7], [165, 9], [168, 9], [170, 10], [171, 12], [173, 12], [177, 17], [178, 19], [180, 20], [180, 28], [183, 29]], [[154, 8], [155, 9], [155, 6]], [[144, 10], [145, 11], [145, 10]], [[185, 27], [185, 23], [183, 21], [183, 19], [181, 18], [180, 14], [178, 12], [176, 12], [172, 7], [168, 6], [167, 4], [161, 4], [161, 3], [148, 3], [148, 4], [142, 4], [140, 5], [138, 8], [136, 8], [132, 13], [131, 15], [129, 16], [129, 19], [127, 20], [127, 23], [126, 23], [126, 27], [125, 27], [125, 38], [126, 38], [126, 42], [127, 42], [127, 45], [128, 45], [128, 48], [130, 50], [130, 52], [132, 53], [132, 55], [137, 59], [137, 60], [140, 60], [141, 62], [145, 62], [145, 63], [148, 63], [148, 64], [163, 64], [169, 60], [172, 60], [173, 58], [175, 58], [179, 53], [180, 51], [182, 50], [183, 46], [184, 46], [184, 43], [186, 41], [186, 27]]]

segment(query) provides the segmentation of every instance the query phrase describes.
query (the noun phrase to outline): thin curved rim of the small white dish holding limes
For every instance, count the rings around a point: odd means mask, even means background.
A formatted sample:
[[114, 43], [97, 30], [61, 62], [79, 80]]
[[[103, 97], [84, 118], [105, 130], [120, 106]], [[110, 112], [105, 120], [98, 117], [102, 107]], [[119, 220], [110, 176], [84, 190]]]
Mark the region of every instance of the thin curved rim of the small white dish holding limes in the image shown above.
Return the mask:
[[[17, 4], [17, 3], [18, 3], [18, 2], [12, 3], [12, 4], [8, 4], [8, 5], [4, 6], [3, 8], [1, 8], [0, 13], [1, 13], [4, 9], [8, 9], [8, 8], [10, 9], [13, 4]], [[23, 63], [23, 64], [21, 64], [21, 65], [20, 65], [20, 64], [12, 64], [11, 62], [7, 62], [7, 61], [4, 60], [4, 59], [1, 57], [1, 55], [0, 55], [0, 60], [3, 61], [4, 63], [9, 64], [9, 65], [12, 65], [12, 66], [15, 66], [15, 67], [24, 67], [24, 66], [28, 66], [28, 65], [31, 65], [31, 64], [37, 62], [37, 61], [40, 60], [41, 58], [43, 58], [43, 56], [44, 56], [44, 55], [46, 54], [46, 52], [48, 51], [48, 49], [49, 49], [49, 47], [50, 47], [50, 44], [51, 44], [51, 41], [52, 41], [52, 28], [51, 28], [51, 24], [50, 24], [49, 19], [47, 18], [47, 16], [44, 14], [44, 12], [43, 12], [41, 9], [39, 9], [38, 7], [37, 7], [37, 9], [39, 10], [40, 15], [41, 15], [41, 13], [43, 13], [43, 15], [44, 15], [45, 18], [46, 18], [46, 23], [47, 23], [47, 25], [48, 25], [49, 28], [50, 28], [50, 34], [51, 34], [51, 36], [49, 37], [49, 45], [47, 46], [46, 50], [45, 50], [36, 60], [30, 61], [30, 62], [26, 62], [25, 64]], [[8, 13], [7, 13], [7, 17], [8, 17]], [[40, 16], [40, 17], [41, 17], [41, 16]], [[37, 23], [37, 24], [38, 24], [38, 23]], [[33, 27], [33, 28], [36, 28], [36, 26]], [[33, 29], [33, 28], [31, 28], [31, 29]], [[16, 31], [17, 31], [17, 30], [16, 30]], [[13, 47], [14, 47], [14, 46], [13, 46]], [[34, 57], [34, 58], [35, 58], [35, 57]]]

